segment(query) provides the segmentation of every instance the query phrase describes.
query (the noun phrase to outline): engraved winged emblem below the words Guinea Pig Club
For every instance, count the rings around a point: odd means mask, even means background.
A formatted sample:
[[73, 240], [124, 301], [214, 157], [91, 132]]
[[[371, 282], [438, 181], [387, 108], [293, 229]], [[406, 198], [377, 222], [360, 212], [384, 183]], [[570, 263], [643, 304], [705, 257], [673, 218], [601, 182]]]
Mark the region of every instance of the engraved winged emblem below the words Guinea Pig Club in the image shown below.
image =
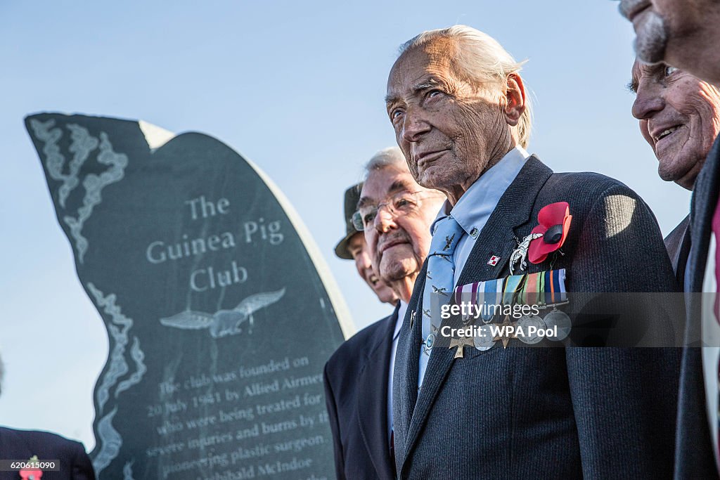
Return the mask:
[[240, 328], [246, 321], [250, 321], [250, 330], [253, 327], [253, 313], [259, 309], [274, 304], [285, 294], [285, 288], [278, 291], [266, 291], [248, 296], [232, 310], [218, 310], [214, 314], [194, 312], [186, 309], [184, 312], [174, 314], [172, 317], [161, 318], [161, 324], [166, 327], [176, 327], [183, 330], [200, 330], [210, 328], [212, 338], [222, 338], [227, 335], [237, 335], [243, 330]]

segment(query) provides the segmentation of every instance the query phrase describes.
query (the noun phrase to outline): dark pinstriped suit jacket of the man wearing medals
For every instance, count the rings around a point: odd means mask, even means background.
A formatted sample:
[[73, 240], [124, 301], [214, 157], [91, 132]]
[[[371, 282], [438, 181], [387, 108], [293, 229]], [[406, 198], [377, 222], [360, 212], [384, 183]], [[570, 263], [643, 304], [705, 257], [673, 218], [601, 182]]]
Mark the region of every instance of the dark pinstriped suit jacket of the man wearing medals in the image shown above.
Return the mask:
[[[554, 268], [567, 290], [675, 291], [657, 222], [623, 184], [594, 173], [552, 173], [527, 160], [477, 238], [458, 284], [507, 276], [513, 237], [541, 207], [570, 204], [572, 225]], [[498, 255], [496, 266], [487, 264]], [[528, 264], [545, 271], [549, 262]], [[672, 476], [680, 349], [433, 348], [418, 393], [425, 268], [400, 331], [393, 388], [402, 479]], [[572, 306], [572, 300], [569, 307]], [[682, 315], [682, 313], [680, 313]], [[420, 313], [416, 314], [420, 318]], [[513, 340], [517, 342], [517, 340]]]

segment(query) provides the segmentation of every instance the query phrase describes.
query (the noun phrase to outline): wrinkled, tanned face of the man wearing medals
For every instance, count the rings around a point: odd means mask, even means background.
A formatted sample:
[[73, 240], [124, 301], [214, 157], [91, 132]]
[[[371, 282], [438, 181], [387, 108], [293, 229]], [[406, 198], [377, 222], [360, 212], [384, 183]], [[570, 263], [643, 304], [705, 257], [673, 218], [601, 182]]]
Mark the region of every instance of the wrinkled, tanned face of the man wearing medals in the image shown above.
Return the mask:
[[447, 40], [405, 51], [392, 66], [386, 98], [413, 177], [446, 192], [477, 180], [509, 135], [500, 86], [480, 90], [464, 81], [451, 65], [453, 52]]

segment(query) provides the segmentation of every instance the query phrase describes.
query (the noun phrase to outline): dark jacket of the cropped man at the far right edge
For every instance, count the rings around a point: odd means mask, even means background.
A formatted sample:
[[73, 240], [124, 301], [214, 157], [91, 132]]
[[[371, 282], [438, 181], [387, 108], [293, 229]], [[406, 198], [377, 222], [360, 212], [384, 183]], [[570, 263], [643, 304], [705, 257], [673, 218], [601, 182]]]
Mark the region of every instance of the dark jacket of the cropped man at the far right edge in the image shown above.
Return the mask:
[[[688, 322], [685, 345], [700, 345], [701, 296], [705, 263], [712, 234], [712, 220], [720, 187], [720, 137], [703, 166], [693, 188], [690, 202], [690, 237], [692, 247], [688, 258], [688, 282], [685, 284], [685, 304]], [[680, 374], [680, 403], [678, 404], [678, 447], [675, 451], [675, 478], [717, 478], [713, 445], [706, 413], [705, 386], [701, 349], [683, 350]]]

